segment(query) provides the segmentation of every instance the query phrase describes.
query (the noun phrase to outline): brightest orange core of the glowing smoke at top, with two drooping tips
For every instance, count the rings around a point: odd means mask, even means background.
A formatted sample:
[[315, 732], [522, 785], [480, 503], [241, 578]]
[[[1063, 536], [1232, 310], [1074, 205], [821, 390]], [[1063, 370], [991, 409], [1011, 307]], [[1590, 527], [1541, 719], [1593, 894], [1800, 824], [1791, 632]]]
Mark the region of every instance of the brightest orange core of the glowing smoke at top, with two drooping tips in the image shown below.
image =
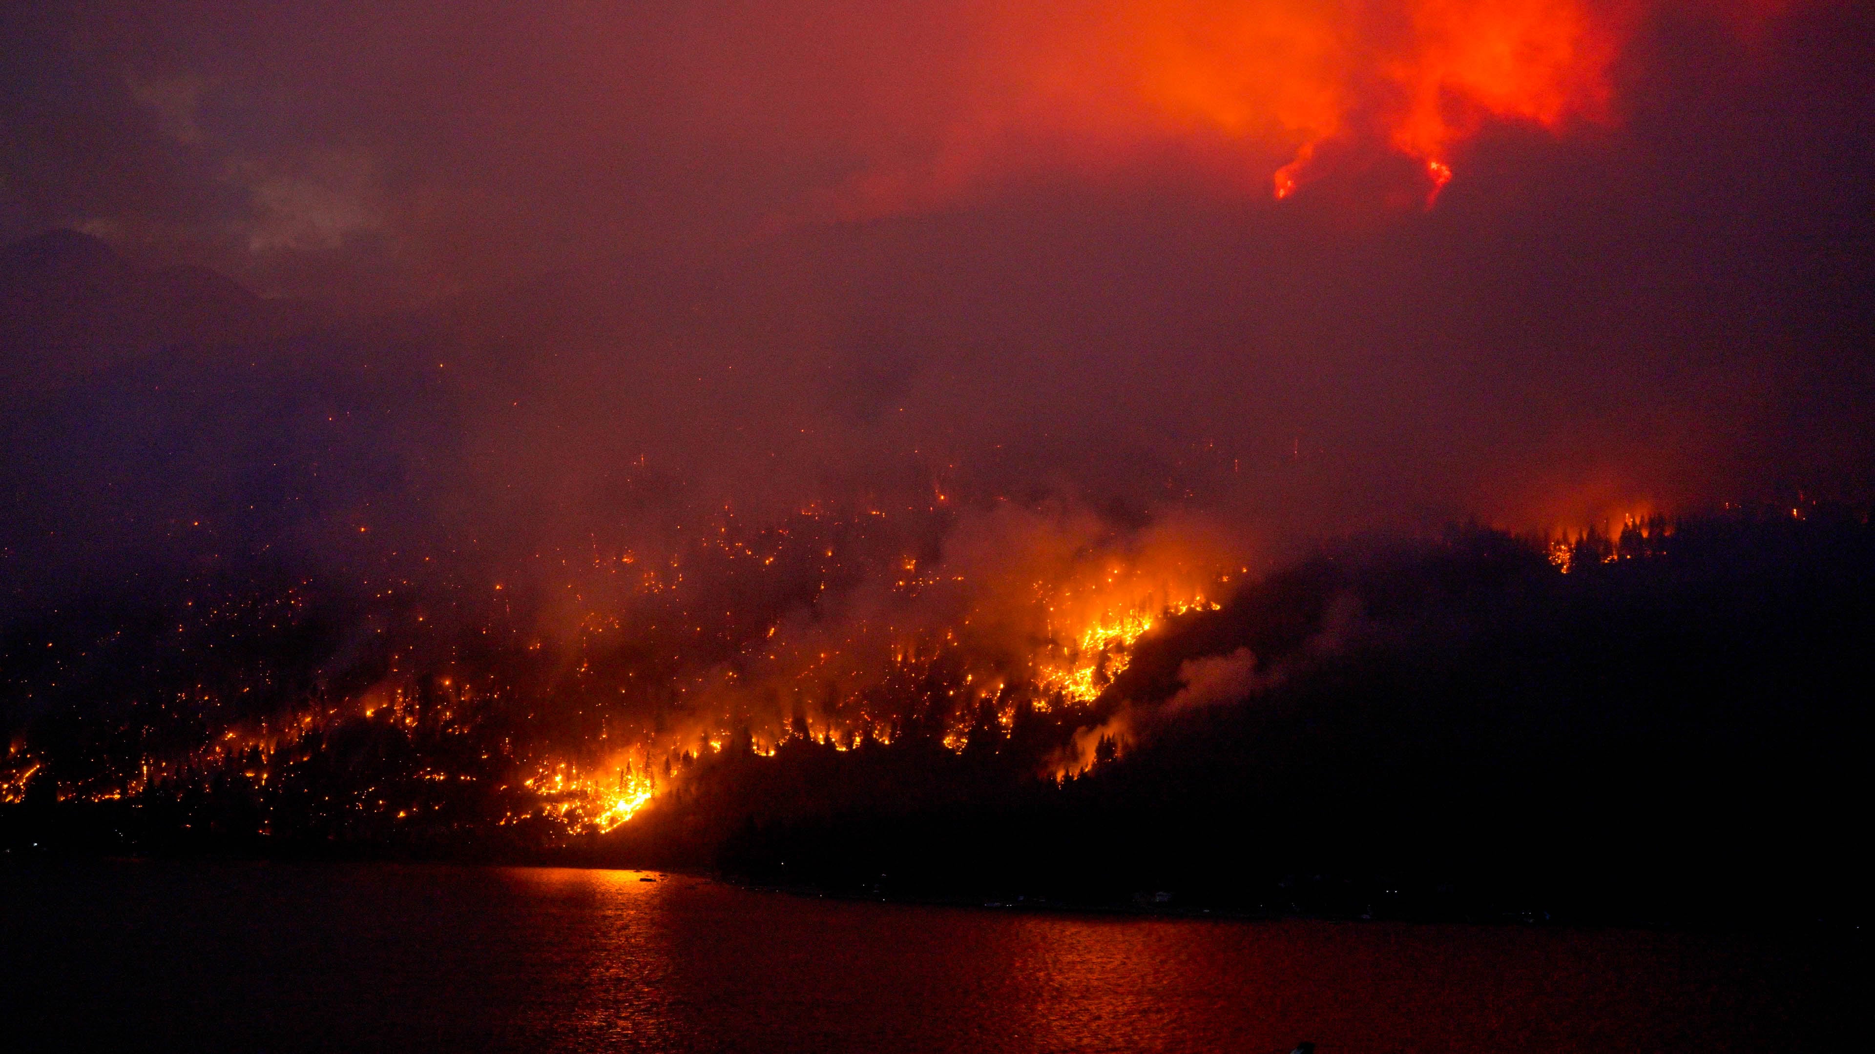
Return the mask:
[[1629, 23], [1626, 6], [1584, 0], [1189, 0], [1129, 4], [1112, 45], [1170, 126], [1288, 148], [1271, 174], [1279, 199], [1333, 141], [1421, 161], [1436, 193], [1489, 120], [1605, 120]]

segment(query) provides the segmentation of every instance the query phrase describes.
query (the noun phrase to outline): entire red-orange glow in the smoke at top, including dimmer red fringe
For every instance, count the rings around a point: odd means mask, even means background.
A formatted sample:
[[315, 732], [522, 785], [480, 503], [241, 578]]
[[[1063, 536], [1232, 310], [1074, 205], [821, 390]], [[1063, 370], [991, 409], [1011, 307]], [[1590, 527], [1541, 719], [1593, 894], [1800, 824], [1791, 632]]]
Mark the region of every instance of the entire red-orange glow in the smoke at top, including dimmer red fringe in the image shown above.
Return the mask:
[[[936, 141], [870, 165], [846, 218], [941, 206], [1039, 167], [1119, 171], [1166, 144], [1286, 199], [1350, 150], [1410, 158], [1431, 204], [1492, 122], [1549, 133], [1616, 116], [1612, 69], [1669, 6], [1740, 36], [1785, 0], [1099, 0], [975, 6], [962, 90], [900, 114]], [[898, 99], [919, 92], [887, 92]], [[943, 98], [938, 103], [938, 96]], [[922, 118], [922, 120], [921, 120]], [[1331, 148], [1333, 146], [1333, 148]]]

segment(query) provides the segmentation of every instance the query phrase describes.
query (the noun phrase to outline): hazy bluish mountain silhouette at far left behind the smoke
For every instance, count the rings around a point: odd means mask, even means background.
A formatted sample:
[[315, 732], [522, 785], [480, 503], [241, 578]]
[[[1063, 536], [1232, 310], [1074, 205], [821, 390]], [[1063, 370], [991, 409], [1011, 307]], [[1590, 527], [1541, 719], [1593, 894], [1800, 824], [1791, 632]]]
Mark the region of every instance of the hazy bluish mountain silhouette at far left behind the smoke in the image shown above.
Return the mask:
[[[401, 332], [399, 332], [401, 334]], [[420, 525], [459, 424], [442, 354], [51, 231], [0, 251], [0, 621], [98, 578]], [[377, 538], [379, 535], [371, 535]]]

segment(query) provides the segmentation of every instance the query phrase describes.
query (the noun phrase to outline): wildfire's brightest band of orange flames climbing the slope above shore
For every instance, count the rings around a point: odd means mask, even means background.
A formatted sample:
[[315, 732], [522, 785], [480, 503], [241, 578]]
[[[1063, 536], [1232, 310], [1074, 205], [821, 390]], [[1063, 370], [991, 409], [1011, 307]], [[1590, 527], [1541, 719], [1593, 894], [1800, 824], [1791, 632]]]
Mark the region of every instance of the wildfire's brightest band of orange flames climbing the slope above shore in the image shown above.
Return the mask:
[[[1022, 707], [1088, 707], [1146, 634], [1215, 610], [1236, 563], [1194, 523], [1116, 529], [1016, 506], [919, 516], [724, 516], [675, 551], [596, 550], [592, 574], [564, 587], [578, 608], [548, 608], [559, 628], [516, 619], [527, 596], [508, 580], [458, 638], [469, 651], [444, 660], [416, 658], [439, 655], [435, 621], [386, 615], [381, 666], [360, 681], [278, 692], [262, 668], [152, 696], [126, 724], [137, 750], [60, 765], [58, 795], [182, 803], [212, 790], [244, 797], [259, 835], [429, 840], [491, 825], [564, 844], [639, 820], [716, 758], [919, 737], [964, 752], [1012, 735]], [[360, 741], [371, 761], [334, 782], [332, 752]], [[0, 799], [47, 778], [38, 761], [15, 746]]]

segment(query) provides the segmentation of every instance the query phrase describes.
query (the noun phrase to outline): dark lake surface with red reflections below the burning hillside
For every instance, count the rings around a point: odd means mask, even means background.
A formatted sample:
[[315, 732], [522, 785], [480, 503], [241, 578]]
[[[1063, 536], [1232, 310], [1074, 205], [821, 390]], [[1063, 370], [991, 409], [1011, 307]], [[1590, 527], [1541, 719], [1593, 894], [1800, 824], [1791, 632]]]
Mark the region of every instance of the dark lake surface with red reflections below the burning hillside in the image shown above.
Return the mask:
[[[0, 1046], [1796, 1050], [1778, 938], [818, 900], [645, 872], [0, 865]], [[1792, 1045], [1794, 1043], [1794, 1045]]]

